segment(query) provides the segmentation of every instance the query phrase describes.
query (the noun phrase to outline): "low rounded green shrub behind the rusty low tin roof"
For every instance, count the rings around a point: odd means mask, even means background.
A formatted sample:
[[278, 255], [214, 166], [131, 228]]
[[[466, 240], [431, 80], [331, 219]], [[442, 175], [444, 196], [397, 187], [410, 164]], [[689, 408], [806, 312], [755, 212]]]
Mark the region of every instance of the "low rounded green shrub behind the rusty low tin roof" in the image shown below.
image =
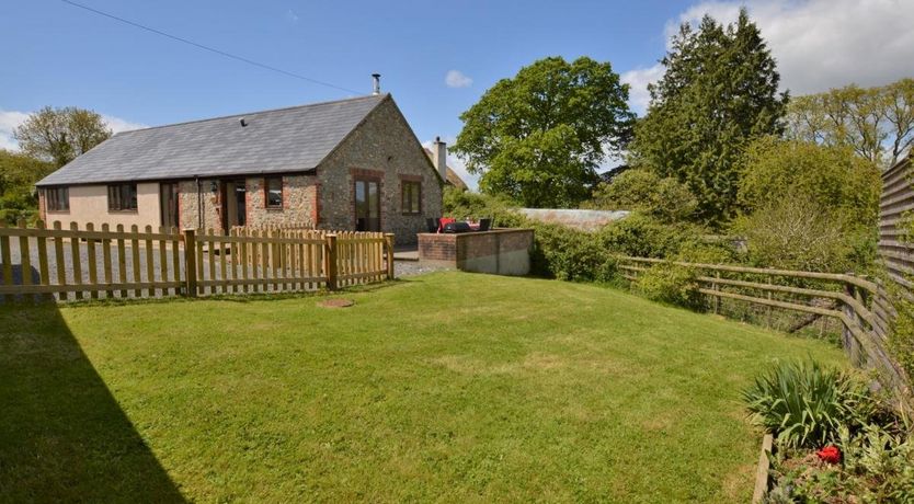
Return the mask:
[[594, 197], [585, 205], [604, 210], [633, 210], [647, 214], [664, 222], [686, 220], [698, 202], [684, 185], [673, 177], [661, 179], [656, 173], [643, 170], [626, 170], [601, 183]]

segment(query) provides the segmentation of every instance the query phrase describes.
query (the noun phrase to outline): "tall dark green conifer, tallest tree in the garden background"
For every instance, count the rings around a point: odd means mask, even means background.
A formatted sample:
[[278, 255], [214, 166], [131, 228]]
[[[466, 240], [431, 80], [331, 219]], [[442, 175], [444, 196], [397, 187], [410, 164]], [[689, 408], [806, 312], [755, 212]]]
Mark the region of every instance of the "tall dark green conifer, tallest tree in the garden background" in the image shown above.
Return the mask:
[[736, 161], [752, 139], [779, 134], [787, 102], [758, 27], [743, 9], [735, 24], [685, 23], [661, 60], [663, 78], [636, 127], [632, 157], [698, 199], [695, 218], [719, 226], [736, 211]]

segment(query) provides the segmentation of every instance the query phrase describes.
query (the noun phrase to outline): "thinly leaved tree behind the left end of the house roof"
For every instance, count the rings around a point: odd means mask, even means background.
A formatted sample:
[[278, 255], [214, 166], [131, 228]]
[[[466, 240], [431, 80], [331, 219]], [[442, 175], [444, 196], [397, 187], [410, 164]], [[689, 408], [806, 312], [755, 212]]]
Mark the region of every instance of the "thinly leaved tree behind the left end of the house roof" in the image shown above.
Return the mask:
[[95, 112], [46, 106], [30, 115], [13, 136], [23, 152], [60, 168], [108, 139], [111, 129]]

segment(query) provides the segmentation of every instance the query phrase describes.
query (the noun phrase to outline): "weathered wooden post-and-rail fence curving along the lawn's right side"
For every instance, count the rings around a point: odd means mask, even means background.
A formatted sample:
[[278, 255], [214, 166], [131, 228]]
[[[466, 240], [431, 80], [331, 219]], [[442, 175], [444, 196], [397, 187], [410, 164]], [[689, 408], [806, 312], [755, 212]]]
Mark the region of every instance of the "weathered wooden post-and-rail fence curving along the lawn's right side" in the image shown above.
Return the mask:
[[[813, 313], [841, 322], [842, 344], [856, 366], [873, 369], [881, 386], [902, 408], [914, 411], [910, 377], [887, 351], [894, 317], [891, 296], [880, 283], [838, 273], [773, 270], [726, 264], [700, 264], [649, 257], [619, 256], [622, 276], [637, 282], [658, 265], [689, 268], [696, 290], [709, 298], [718, 312], [721, 299], [733, 299], [772, 309]], [[815, 299], [834, 301], [834, 308]]]

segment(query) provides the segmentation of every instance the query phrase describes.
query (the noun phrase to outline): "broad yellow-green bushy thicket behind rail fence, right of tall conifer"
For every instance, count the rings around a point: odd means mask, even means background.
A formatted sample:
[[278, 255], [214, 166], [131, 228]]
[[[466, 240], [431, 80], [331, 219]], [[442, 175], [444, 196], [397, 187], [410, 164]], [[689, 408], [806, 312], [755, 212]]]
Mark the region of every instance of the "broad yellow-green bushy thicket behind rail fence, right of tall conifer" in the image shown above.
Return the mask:
[[762, 138], [740, 160], [733, 230], [759, 265], [865, 271], [876, 259], [880, 177], [849, 148]]

